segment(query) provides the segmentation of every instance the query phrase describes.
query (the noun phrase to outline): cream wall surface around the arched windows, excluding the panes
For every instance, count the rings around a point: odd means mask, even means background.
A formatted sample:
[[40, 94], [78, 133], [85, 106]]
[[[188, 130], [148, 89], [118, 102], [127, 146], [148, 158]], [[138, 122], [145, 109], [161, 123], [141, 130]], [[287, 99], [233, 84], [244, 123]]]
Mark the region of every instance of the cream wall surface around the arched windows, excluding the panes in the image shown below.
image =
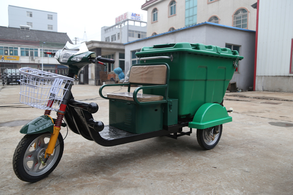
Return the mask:
[[[147, 37], [152, 33], [165, 33], [170, 27], [175, 29], [185, 27], [185, 0], [176, 0], [176, 15], [168, 17], [168, 5], [171, 0], [158, 0], [151, 6], [143, 8], [147, 10]], [[256, 9], [251, 7], [257, 0], [216, 0], [208, 3], [208, 0], [197, 0], [197, 23], [208, 21], [213, 15], [220, 19], [220, 24], [233, 26], [233, 14], [239, 8], [246, 8], [248, 13], [248, 29], [255, 31]], [[152, 10], [158, 9], [158, 21], [152, 22]]]

